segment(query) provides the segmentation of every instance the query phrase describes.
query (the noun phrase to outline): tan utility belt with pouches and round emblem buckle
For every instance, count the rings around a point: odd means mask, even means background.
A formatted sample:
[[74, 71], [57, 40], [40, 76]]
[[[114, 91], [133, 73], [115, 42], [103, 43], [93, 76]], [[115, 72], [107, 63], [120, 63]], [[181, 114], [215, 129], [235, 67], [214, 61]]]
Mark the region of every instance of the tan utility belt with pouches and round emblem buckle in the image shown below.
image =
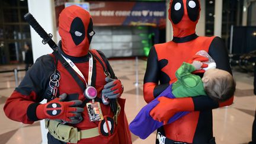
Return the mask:
[[[76, 127], [69, 126], [61, 123], [57, 120], [45, 120], [46, 129], [50, 134], [62, 142], [77, 143], [81, 139], [88, 139], [96, 136], [109, 137], [113, 135], [114, 129], [117, 126], [117, 118], [120, 113], [120, 105], [117, 103], [117, 113], [113, 117], [104, 116], [104, 119], [100, 121], [98, 127], [87, 130], [79, 130]], [[107, 125], [107, 129], [104, 127]]]

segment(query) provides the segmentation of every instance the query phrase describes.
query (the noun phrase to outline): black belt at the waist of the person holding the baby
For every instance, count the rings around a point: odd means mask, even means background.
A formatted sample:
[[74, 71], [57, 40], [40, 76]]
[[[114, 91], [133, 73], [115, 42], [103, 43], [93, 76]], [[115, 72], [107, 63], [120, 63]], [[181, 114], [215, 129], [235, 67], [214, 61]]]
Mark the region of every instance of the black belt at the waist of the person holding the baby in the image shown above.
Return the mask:
[[[187, 142], [177, 142], [171, 139], [168, 139], [164, 135], [161, 135], [160, 132], [157, 133], [156, 140], [158, 139], [159, 144], [196, 144], [196, 143], [187, 143]], [[208, 143], [200, 143], [200, 144], [216, 144], [215, 137], [209, 140]]]

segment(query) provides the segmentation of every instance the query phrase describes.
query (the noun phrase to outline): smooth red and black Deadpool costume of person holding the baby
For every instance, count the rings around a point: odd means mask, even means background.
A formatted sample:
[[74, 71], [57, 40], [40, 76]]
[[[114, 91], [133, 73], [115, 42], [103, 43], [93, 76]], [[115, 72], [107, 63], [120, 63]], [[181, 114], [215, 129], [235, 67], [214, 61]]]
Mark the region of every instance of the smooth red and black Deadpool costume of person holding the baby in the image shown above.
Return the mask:
[[[151, 102], [164, 89], [176, 81], [175, 71], [183, 62], [193, 59], [199, 50], [205, 50], [215, 60], [218, 69], [232, 73], [228, 52], [219, 37], [196, 35], [200, 15], [198, 0], [171, 0], [169, 20], [173, 27], [173, 40], [155, 44], [148, 56], [144, 77], [143, 95]], [[200, 76], [200, 73], [198, 74]], [[189, 96], [189, 95], [188, 95]], [[159, 98], [151, 111], [153, 119], [167, 121], [175, 113], [191, 111], [184, 117], [158, 129], [156, 143], [215, 143], [213, 137], [212, 109], [231, 105], [233, 97], [218, 103], [209, 97]]]

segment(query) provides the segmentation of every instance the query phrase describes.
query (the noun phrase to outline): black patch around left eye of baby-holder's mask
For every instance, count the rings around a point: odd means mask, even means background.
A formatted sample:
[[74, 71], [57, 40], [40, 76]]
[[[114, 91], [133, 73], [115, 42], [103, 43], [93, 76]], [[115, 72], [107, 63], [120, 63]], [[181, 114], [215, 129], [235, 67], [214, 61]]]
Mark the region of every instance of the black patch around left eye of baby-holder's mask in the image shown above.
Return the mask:
[[[181, 8], [176, 10], [175, 9], [175, 5], [177, 3], [180, 3], [181, 4]], [[174, 0], [172, 1], [172, 4], [171, 4], [171, 20], [172, 20], [172, 23], [174, 24], [178, 24], [180, 23], [180, 21], [182, 20], [183, 18], [183, 15], [184, 15], [184, 5], [183, 5], [183, 1], [182, 0]]]

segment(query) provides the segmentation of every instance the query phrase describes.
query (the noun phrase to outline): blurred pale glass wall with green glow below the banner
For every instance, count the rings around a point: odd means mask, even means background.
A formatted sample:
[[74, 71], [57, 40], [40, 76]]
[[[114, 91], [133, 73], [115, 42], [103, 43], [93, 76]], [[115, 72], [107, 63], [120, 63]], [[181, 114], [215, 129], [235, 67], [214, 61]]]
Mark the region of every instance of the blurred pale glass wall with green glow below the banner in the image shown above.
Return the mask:
[[91, 48], [107, 57], [148, 56], [151, 46], [159, 43], [159, 30], [153, 27], [95, 26], [94, 31]]

